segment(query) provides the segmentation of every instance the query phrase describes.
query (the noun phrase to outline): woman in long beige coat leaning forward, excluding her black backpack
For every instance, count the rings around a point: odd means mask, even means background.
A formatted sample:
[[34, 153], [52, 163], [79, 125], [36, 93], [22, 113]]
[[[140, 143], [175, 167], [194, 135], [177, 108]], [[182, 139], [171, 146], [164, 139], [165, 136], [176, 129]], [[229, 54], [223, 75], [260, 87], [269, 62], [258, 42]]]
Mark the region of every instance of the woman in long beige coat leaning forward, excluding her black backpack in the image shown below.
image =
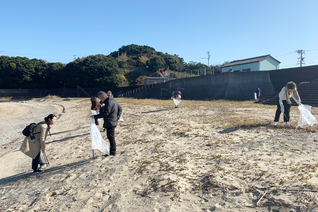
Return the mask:
[[54, 125], [56, 116], [50, 114], [44, 118], [44, 121], [37, 124], [34, 128], [31, 137], [25, 137], [20, 147], [20, 151], [32, 158], [32, 169], [34, 173], [42, 173], [44, 170], [38, 169], [46, 167], [48, 164], [43, 163], [41, 160], [41, 151], [45, 152], [45, 140], [47, 133], [51, 129], [50, 125]]

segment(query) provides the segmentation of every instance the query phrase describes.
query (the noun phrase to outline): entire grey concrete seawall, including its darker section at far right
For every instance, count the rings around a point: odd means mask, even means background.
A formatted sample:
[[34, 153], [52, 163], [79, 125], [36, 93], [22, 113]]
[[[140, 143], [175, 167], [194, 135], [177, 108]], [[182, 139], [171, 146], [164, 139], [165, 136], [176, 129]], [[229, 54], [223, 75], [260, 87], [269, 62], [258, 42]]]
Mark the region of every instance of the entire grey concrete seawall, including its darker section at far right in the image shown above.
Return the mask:
[[258, 72], [225, 72], [174, 79], [129, 96], [170, 98], [176, 88], [183, 88], [185, 90], [179, 89], [182, 99], [254, 99], [257, 87], [263, 98], [280, 91], [288, 81], [297, 84], [314, 79], [318, 79], [318, 65]]

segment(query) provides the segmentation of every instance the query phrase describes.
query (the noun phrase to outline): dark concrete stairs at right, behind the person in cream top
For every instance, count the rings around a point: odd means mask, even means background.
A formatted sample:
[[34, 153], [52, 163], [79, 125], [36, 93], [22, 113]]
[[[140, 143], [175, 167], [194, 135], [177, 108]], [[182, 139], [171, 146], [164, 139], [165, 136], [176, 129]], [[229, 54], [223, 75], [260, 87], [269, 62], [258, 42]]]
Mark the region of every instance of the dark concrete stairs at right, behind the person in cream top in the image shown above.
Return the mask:
[[[302, 104], [318, 107], [318, 79], [310, 81], [309, 83], [298, 84], [297, 91]], [[277, 91], [272, 95], [266, 96], [255, 103], [264, 105], [277, 105], [279, 92], [280, 91]], [[293, 98], [291, 98], [291, 101], [292, 106], [298, 106]]]

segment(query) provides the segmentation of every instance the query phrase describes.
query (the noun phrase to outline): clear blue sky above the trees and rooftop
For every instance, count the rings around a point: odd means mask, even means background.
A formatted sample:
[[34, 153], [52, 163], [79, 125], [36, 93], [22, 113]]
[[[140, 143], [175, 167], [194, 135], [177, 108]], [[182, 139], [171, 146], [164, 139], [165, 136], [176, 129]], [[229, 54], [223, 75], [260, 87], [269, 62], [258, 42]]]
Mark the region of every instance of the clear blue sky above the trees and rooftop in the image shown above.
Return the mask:
[[[2, 1], [0, 53], [68, 63], [137, 44], [204, 64], [207, 51], [210, 64], [270, 54], [290, 68], [296, 50], [318, 50], [317, 9], [316, 0]], [[318, 65], [318, 51], [305, 54]]]

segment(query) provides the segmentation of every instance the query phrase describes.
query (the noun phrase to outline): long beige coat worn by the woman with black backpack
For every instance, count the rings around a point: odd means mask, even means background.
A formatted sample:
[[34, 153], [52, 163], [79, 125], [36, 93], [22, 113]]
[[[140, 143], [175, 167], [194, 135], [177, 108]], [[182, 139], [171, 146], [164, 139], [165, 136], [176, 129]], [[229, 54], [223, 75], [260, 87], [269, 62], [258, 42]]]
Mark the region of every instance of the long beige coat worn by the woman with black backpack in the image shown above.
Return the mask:
[[42, 148], [45, 148], [45, 140], [47, 133], [51, 127], [45, 121], [40, 122], [33, 130], [35, 139], [31, 140], [30, 137], [25, 137], [20, 147], [20, 151], [34, 159]]

